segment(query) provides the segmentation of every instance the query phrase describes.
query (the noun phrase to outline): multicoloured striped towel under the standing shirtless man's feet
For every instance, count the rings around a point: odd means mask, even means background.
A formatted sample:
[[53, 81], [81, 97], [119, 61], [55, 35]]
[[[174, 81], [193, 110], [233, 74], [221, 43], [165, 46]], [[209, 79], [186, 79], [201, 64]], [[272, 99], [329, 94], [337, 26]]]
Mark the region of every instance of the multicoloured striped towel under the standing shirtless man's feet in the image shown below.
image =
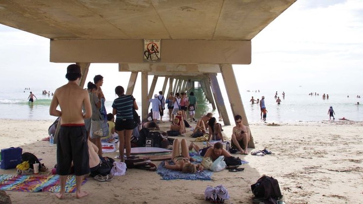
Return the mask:
[[[85, 184], [87, 179], [82, 182]], [[59, 175], [0, 175], [0, 190], [22, 192], [60, 192]], [[76, 192], [76, 176], [68, 176], [65, 185], [68, 193]]]

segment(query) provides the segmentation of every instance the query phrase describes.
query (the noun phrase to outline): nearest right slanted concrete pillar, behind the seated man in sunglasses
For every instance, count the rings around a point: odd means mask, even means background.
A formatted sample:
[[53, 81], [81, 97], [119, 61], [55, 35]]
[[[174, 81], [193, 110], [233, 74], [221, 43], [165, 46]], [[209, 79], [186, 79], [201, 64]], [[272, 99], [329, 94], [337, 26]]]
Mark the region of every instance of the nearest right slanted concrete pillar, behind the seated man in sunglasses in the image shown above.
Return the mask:
[[[221, 68], [221, 73], [223, 76], [223, 81], [225, 83], [225, 87], [227, 90], [228, 100], [231, 105], [233, 117], [236, 115], [242, 116], [243, 125], [249, 126], [248, 120], [246, 117], [246, 112], [244, 111], [240, 90], [238, 88], [238, 84], [237, 84], [236, 78], [233, 73], [232, 65], [223, 64], [223, 65], [220, 65], [220, 68]], [[250, 142], [248, 143], [248, 147], [255, 148], [252, 133], [250, 134], [250, 136], [251, 136], [251, 139], [250, 139]]]

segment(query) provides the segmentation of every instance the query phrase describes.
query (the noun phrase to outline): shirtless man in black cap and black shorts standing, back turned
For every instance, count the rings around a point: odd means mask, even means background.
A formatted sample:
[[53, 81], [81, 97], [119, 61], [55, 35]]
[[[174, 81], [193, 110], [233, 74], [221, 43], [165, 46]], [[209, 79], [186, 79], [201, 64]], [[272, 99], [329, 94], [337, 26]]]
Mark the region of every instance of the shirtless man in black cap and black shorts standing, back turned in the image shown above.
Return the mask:
[[[84, 175], [90, 173], [84, 119], [91, 117], [91, 102], [87, 90], [78, 86], [81, 77], [79, 65], [69, 65], [65, 77], [68, 83], [57, 88], [49, 107], [51, 116], [61, 117], [61, 129], [57, 138], [57, 174], [60, 175], [61, 191], [56, 196], [59, 199], [65, 198], [65, 184], [67, 176], [71, 174], [73, 161], [76, 198], [82, 198], [88, 195], [86, 191], [81, 191], [81, 185]], [[61, 111], [57, 110], [58, 105]], [[82, 112], [82, 106], [85, 108], [85, 113]]]

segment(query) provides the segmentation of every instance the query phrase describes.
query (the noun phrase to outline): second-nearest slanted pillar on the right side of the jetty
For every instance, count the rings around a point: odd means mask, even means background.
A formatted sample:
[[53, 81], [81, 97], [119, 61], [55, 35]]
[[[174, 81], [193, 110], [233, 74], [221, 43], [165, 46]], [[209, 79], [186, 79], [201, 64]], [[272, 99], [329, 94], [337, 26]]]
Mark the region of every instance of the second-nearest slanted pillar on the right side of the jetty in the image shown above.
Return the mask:
[[219, 115], [223, 118], [223, 123], [225, 125], [231, 125], [226, 109], [225, 102], [223, 100], [221, 88], [219, 87], [218, 80], [217, 80], [217, 74], [211, 73], [209, 74], [210, 80], [211, 80], [211, 87], [212, 92], [214, 96], [215, 103], [217, 104]]

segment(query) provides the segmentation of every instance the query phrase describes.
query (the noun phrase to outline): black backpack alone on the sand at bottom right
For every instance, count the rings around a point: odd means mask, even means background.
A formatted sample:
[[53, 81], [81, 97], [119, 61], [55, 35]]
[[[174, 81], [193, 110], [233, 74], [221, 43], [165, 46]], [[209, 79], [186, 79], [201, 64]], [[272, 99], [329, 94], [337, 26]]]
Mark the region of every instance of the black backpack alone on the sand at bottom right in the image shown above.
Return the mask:
[[255, 184], [251, 185], [252, 193], [261, 199], [273, 199], [282, 198], [279, 183], [276, 179], [263, 175], [260, 177]]

